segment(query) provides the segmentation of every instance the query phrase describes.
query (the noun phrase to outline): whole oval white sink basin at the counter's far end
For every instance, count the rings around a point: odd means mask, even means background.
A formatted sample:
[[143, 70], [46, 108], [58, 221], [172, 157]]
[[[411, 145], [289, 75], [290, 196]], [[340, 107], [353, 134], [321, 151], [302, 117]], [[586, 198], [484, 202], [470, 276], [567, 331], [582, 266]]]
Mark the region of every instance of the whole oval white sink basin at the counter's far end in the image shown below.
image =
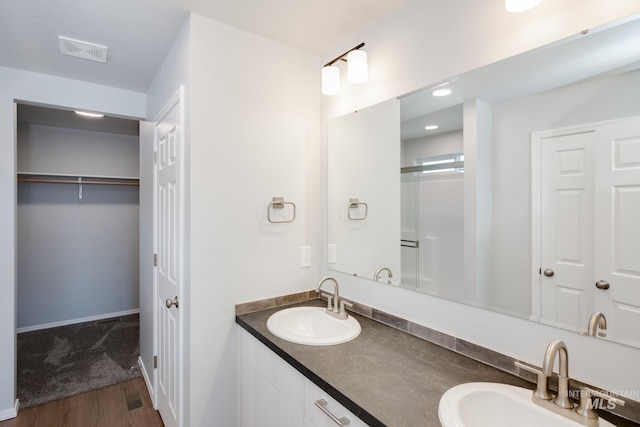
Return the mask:
[[293, 307], [273, 313], [267, 320], [267, 329], [278, 338], [297, 344], [333, 345], [357, 337], [360, 323], [352, 316], [337, 319], [322, 307]]

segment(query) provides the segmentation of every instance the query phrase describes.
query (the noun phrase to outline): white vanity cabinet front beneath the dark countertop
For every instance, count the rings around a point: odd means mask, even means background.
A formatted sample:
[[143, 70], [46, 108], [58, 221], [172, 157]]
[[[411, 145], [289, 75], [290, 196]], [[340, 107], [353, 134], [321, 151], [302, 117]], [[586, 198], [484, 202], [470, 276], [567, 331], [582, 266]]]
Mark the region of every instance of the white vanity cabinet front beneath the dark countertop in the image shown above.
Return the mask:
[[337, 419], [349, 420], [346, 426], [367, 425], [249, 332], [240, 331], [241, 427], [336, 427], [316, 406], [321, 399]]

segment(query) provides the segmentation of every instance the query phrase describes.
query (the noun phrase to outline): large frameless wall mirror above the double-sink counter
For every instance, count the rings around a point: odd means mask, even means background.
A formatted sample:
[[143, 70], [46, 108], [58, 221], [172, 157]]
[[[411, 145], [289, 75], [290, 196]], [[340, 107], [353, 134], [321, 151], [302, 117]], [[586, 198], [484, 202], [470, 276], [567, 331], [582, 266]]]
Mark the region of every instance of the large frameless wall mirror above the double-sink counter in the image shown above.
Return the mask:
[[330, 120], [329, 268], [640, 347], [638, 117], [633, 16]]

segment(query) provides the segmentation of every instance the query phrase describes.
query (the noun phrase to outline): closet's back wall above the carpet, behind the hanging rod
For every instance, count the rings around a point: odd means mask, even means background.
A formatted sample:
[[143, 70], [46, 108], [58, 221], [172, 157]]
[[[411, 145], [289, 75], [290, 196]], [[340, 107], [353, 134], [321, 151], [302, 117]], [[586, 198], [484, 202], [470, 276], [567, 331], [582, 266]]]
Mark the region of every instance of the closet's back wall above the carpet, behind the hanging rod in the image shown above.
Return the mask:
[[[18, 124], [18, 171], [138, 176], [138, 136]], [[138, 309], [138, 188], [18, 184], [18, 328]]]

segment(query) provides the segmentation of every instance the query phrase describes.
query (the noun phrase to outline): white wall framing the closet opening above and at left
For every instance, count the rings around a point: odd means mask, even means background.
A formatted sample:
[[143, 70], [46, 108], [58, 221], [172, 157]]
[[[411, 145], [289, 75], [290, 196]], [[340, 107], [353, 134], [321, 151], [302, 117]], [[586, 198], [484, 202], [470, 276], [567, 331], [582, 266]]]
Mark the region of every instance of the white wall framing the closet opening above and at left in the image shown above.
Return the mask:
[[145, 116], [145, 95], [0, 67], [0, 419], [15, 416], [16, 369], [16, 117], [14, 100]]

